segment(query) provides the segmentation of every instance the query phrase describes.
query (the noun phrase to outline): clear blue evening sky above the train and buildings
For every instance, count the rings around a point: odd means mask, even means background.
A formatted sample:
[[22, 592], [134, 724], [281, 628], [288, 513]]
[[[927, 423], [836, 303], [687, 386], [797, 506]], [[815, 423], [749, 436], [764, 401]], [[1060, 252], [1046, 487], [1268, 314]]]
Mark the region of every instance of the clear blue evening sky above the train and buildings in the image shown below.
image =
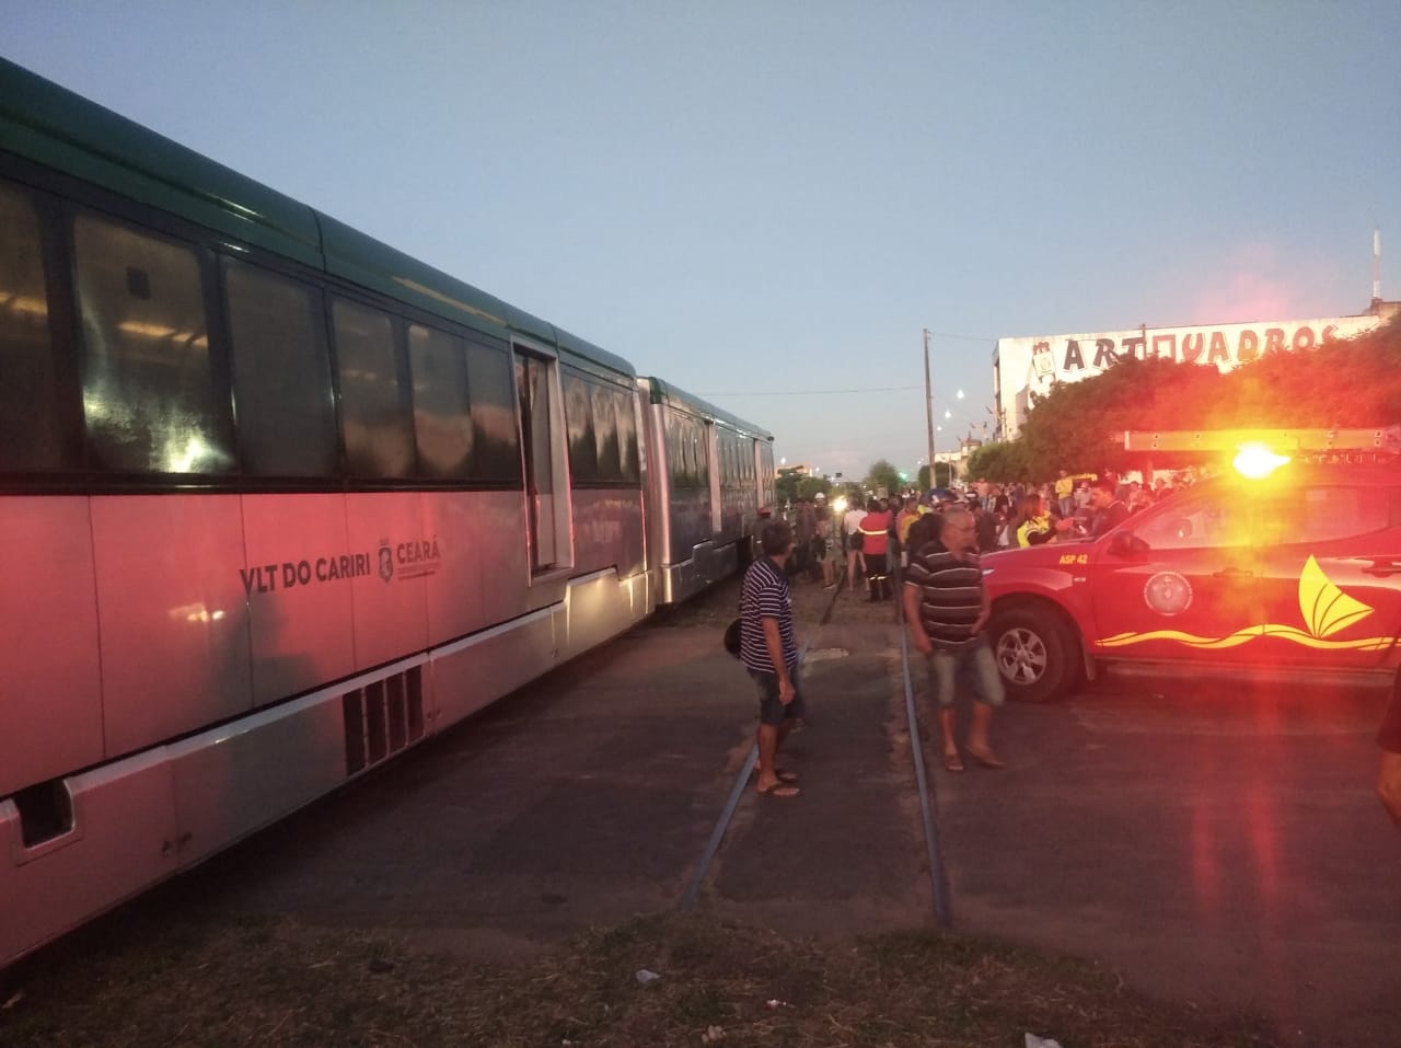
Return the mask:
[[[863, 475], [1003, 335], [1401, 297], [1401, 3], [0, 0], [0, 53]], [[958, 401], [957, 389], [965, 391]]]

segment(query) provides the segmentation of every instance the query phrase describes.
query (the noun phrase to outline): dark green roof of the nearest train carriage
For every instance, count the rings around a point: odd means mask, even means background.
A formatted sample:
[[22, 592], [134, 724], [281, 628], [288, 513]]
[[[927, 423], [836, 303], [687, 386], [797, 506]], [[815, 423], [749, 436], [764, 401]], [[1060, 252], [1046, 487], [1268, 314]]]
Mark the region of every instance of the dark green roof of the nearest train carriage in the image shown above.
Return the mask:
[[623, 357], [555, 328], [308, 205], [0, 57], [0, 144], [64, 175], [374, 289], [483, 333], [518, 333], [570, 363], [635, 377]]

